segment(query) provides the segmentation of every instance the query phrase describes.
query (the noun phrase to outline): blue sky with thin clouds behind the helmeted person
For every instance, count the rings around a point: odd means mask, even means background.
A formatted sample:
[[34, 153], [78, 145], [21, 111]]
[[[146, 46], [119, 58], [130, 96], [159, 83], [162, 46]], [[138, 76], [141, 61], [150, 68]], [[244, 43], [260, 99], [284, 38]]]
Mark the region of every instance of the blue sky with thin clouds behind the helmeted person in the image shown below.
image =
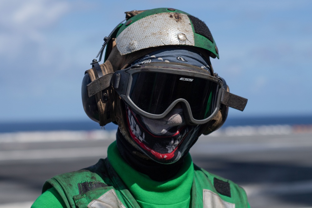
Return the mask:
[[81, 80], [124, 12], [173, 7], [203, 20], [214, 70], [248, 98], [229, 116], [312, 114], [312, 1], [0, 2], [0, 121], [84, 120]]

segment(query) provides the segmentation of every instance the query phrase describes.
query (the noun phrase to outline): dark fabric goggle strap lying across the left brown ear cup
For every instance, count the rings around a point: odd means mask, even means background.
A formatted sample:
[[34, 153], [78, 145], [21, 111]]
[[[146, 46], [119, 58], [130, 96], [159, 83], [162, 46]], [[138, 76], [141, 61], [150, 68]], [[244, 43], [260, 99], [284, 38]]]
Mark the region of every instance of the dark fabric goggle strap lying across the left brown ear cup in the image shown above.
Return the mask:
[[88, 97], [95, 95], [96, 93], [99, 93], [100, 91], [108, 88], [110, 86], [110, 80], [112, 79], [114, 73], [109, 73], [107, 75], [104, 75], [92, 82], [90, 82], [87, 85], [87, 93]]

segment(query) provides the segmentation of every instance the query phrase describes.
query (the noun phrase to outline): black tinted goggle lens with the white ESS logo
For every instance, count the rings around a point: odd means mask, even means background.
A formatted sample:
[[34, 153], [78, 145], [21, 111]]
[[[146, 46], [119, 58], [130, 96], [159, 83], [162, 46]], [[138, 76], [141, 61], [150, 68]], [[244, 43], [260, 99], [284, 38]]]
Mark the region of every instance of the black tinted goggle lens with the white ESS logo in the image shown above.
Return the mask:
[[188, 101], [193, 118], [208, 118], [216, 108], [219, 85], [211, 80], [159, 72], [132, 75], [129, 97], [140, 109], [162, 114], [177, 99]]

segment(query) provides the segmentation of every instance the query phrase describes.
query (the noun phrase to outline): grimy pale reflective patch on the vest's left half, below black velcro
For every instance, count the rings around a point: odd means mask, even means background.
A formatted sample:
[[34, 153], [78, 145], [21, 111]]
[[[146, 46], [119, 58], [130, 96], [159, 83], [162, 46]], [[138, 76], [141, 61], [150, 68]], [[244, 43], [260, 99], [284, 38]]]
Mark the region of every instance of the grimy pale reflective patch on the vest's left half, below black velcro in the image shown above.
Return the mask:
[[126, 208], [118, 199], [114, 189], [107, 191], [98, 199], [92, 200], [88, 208]]

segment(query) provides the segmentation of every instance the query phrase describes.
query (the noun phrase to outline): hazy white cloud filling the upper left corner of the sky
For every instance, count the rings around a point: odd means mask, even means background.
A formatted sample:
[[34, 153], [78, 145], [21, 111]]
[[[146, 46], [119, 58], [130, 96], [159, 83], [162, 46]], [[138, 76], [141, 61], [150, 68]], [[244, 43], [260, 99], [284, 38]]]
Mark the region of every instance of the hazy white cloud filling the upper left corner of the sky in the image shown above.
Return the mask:
[[28, 41], [44, 41], [42, 29], [50, 27], [69, 9], [69, 3], [64, 1], [2, 0], [0, 54], [12, 56]]

